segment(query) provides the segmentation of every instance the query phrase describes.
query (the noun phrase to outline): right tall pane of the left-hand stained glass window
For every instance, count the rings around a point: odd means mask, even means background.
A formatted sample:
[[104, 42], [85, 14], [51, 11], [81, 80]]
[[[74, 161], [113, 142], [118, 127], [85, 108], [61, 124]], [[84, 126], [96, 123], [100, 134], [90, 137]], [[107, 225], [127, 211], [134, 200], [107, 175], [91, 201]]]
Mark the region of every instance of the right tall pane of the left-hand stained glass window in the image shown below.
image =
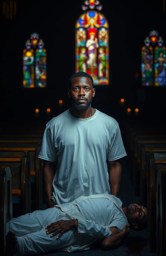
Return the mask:
[[46, 87], [47, 85], [47, 68], [46, 68], [46, 49], [36, 49], [35, 52], [35, 86], [38, 87]]

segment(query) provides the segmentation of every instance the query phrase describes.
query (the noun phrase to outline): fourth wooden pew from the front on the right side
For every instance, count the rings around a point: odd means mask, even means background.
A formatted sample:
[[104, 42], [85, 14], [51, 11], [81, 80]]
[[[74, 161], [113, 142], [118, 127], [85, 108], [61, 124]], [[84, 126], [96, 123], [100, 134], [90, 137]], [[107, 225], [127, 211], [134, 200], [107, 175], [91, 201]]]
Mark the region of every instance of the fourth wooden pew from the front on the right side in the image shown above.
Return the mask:
[[[132, 172], [133, 172], [133, 184], [135, 188], [135, 195], [139, 196], [140, 194], [140, 182], [139, 182], [139, 177], [140, 177], [140, 150], [141, 150], [141, 145], [146, 144], [146, 145], [153, 145], [154, 148], [166, 148], [166, 140], [165, 139], [160, 139], [154, 138], [154, 137], [149, 137], [149, 139], [135, 139], [134, 143], [134, 151], [133, 151], [133, 167], [132, 167]], [[149, 146], [150, 148], [150, 146]]]

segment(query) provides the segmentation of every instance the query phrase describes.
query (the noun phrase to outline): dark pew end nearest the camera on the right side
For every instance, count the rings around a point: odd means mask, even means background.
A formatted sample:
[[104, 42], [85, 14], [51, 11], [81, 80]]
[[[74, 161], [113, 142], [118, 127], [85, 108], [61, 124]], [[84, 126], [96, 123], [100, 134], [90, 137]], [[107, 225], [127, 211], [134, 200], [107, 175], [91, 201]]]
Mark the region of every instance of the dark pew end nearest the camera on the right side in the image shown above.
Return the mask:
[[157, 175], [156, 217], [157, 256], [164, 256], [166, 252], [166, 168], [160, 169]]

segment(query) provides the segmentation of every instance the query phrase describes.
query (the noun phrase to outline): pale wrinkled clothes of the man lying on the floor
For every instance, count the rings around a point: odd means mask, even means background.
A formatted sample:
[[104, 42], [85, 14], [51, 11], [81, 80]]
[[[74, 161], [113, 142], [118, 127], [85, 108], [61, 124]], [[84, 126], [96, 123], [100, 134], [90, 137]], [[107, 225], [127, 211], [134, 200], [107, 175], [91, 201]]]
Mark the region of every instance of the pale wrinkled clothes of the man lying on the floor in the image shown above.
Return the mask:
[[[128, 223], [122, 202], [113, 195], [81, 196], [71, 203], [27, 213], [7, 223], [7, 232], [16, 233], [19, 251], [16, 255], [39, 254], [46, 251], [83, 251], [97, 239], [111, 235], [110, 227], [119, 232]], [[45, 227], [58, 220], [78, 220], [78, 231], [70, 230], [58, 240], [46, 235]]]

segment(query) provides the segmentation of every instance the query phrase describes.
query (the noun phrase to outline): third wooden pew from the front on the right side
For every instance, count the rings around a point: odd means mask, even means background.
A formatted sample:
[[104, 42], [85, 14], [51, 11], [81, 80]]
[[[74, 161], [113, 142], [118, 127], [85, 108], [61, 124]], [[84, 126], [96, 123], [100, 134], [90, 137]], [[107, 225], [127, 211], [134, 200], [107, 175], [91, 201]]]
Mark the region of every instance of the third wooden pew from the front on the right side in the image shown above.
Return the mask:
[[155, 144], [141, 144], [140, 153], [140, 199], [147, 205], [147, 178], [148, 178], [148, 152], [154, 152], [155, 159], [162, 159], [166, 155], [166, 148], [155, 148]]

